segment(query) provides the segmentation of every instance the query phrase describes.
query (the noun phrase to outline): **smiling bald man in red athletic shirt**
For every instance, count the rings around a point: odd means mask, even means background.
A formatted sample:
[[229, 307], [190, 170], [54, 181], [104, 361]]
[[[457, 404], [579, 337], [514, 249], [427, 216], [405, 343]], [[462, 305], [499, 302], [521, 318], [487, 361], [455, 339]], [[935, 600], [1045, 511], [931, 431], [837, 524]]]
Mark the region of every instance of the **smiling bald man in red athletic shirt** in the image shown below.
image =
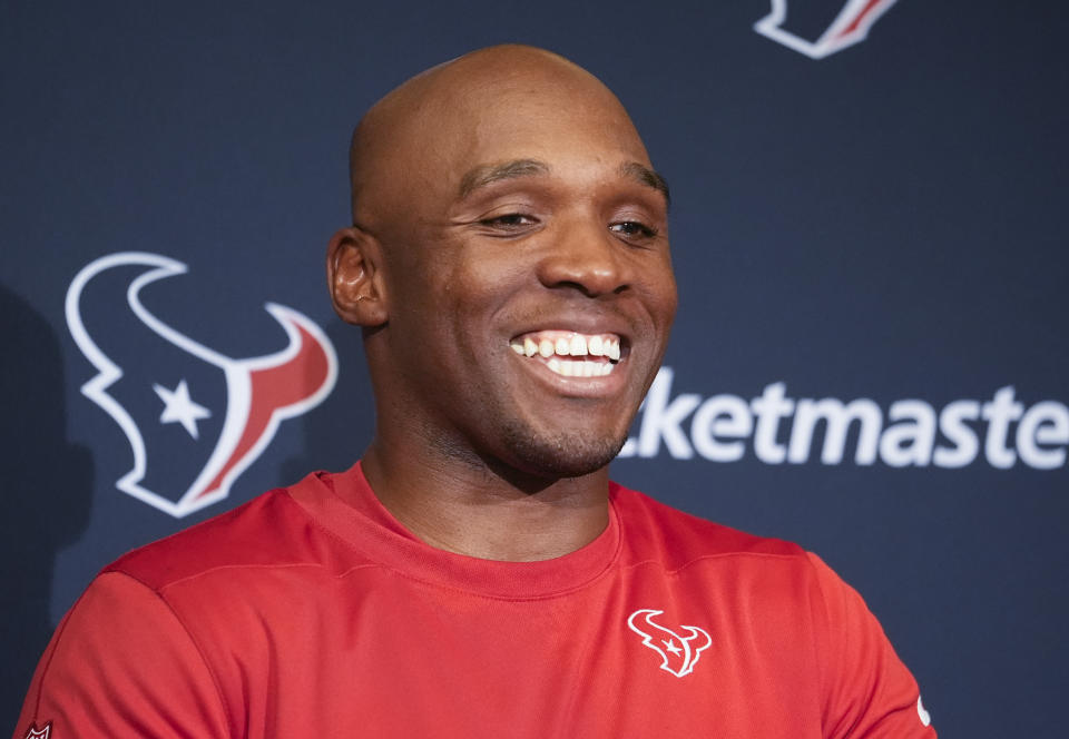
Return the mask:
[[676, 308], [611, 92], [484, 49], [375, 105], [351, 165], [362, 462], [107, 568], [16, 737], [934, 737], [820, 560], [609, 482]]

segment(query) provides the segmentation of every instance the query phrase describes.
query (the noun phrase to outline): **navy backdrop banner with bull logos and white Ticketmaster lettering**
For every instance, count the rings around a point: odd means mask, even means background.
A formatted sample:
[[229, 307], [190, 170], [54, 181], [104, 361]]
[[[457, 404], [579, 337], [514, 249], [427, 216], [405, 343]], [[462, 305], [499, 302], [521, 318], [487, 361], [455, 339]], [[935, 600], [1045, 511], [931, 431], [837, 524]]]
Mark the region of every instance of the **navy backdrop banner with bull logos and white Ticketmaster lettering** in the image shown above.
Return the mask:
[[997, 0], [4, 4], [0, 725], [105, 564], [360, 456], [360, 333], [323, 276], [352, 126], [520, 41], [612, 88], [671, 185], [679, 317], [615, 477], [820, 553], [941, 736], [1061, 736], [1067, 21]]

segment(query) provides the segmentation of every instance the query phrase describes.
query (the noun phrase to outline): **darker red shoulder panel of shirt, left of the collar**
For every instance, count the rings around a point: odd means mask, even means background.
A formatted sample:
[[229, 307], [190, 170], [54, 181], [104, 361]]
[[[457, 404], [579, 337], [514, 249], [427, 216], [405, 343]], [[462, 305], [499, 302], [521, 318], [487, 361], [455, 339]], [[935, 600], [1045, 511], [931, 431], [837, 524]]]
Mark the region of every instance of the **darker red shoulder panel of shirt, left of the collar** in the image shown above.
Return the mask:
[[323, 538], [286, 489], [136, 549], [105, 568], [153, 590], [217, 570], [317, 563]]

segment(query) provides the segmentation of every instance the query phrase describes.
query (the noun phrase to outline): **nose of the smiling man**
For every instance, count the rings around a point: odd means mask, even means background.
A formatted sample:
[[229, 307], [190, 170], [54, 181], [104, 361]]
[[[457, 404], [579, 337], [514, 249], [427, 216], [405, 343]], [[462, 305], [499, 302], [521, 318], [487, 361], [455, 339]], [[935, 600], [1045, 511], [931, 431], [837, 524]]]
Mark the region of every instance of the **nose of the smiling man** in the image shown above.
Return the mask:
[[547, 239], [539, 262], [539, 279], [547, 287], [572, 287], [588, 297], [619, 293], [630, 284], [630, 269], [621, 244], [605, 224], [569, 220]]

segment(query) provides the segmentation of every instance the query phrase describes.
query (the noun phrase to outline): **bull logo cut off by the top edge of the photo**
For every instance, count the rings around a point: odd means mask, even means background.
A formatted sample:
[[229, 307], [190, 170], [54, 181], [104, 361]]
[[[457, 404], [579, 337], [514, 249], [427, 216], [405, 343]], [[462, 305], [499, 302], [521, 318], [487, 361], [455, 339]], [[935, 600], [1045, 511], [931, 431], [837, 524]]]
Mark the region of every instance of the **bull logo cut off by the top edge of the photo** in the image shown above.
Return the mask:
[[[820, 0], [794, 0], [791, 10], [798, 18], [788, 13], [787, 0], [772, 0], [772, 11], [754, 24], [754, 30], [782, 43], [811, 59], [824, 57], [841, 51], [849, 46], [864, 41], [869, 29], [876, 20], [890, 10], [896, 0], [836, 0], [834, 3], [822, 3]], [[803, 18], [804, 17], [804, 18]], [[812, 27], [815, 33], [804, 33], [797, 26], [805, 26], [798, 20], [815, 20]], [[788, 23], [797, 23], [795, 30], [787, 30]], [[810, 40], [810, 38], [814, 40]]]

